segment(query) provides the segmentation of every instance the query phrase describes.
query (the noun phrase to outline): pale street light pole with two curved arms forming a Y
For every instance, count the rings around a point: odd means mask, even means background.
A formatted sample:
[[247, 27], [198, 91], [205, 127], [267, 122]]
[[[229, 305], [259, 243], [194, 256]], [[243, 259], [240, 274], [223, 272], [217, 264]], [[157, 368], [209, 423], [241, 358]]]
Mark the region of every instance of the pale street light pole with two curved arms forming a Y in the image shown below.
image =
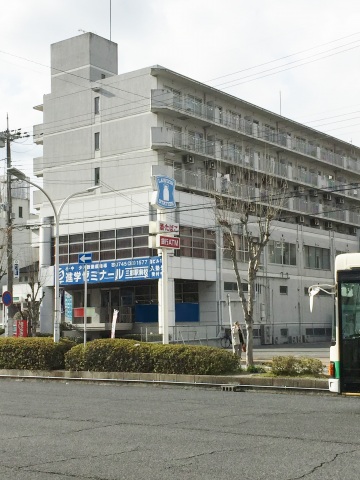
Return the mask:
[[50, 205], [53, 209], [54, 212], [54, 218], [55, 218], [55, 271], [54, 271], [54, 287], [55, 287], [55, 294], [54, 294], [54, 342], [59, 342], [60, 340], [60, 284], [59, 284], [59, 227], [60, 227], [60, 216], [62, 209], [64, 208], [65, 204], [73, 197], [76, 197], [78, 195], [82, 195], [83, 193], [90, 193], [93, 192], [94, 190], [100, 188], [99, 185], [93, 186], [86, 188], [85, 190], [81, 190], [80, 192], [75, 192], [71, 193], [68, 195], [65, 200], [62, 201], [59, 210], [56, 210], [56, 207], [54, 205], [54, 202], [51, 200], [49, 194], [39, 185], [36, 183], [32, 182], [29, 180], [26, 175], [18, 170], [17, 168], [8, 168], [7, 173], [9, 175], [13, 175], [14, 177], [19, 178], [20, 180], [23, 180], [26, 183], [29, 183], [33, 187], [38, 188], [44, 195], [45, 197], [49, 200]]

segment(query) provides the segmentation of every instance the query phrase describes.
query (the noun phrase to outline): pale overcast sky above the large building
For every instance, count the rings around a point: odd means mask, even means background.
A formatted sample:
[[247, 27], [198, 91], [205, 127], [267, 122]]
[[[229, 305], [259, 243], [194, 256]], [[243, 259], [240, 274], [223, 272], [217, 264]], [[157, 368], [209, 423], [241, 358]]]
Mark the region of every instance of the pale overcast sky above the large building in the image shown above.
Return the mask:
[[[110, 3], [119, 73], [159, 64], [360, 146], [358, 0], [2, 2], [0, 131], [7, 113], [11, 129], [42, 123], [33, 107], [50, 92], [50, 45], [110, 38]], [[13, 164], [30, 174], [41, 148], [21, 143]]]

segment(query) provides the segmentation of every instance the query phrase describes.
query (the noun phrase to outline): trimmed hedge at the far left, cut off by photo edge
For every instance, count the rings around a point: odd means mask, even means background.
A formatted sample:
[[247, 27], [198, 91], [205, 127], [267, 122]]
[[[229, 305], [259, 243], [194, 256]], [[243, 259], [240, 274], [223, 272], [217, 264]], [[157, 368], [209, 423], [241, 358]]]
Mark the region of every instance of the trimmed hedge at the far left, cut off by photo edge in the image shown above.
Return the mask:
[[73, 342], [52, 338], [0, 338], [0, 368], [21, 370], [57, 370], [65, 367], [65, 353]]

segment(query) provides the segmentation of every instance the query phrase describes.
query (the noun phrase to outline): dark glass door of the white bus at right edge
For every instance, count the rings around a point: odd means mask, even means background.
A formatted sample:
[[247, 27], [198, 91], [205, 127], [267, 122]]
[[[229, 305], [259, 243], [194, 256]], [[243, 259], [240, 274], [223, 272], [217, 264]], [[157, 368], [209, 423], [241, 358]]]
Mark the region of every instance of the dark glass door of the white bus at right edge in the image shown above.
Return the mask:
[[341, 393], [360, 392], [360, 270], [338, 272]]

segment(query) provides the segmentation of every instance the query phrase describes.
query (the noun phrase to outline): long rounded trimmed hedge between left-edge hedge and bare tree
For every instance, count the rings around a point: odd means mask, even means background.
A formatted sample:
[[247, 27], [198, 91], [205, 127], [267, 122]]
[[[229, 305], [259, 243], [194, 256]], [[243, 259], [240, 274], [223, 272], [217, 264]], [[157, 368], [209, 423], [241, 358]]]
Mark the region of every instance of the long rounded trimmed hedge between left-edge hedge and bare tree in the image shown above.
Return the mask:
[[162, 345], [134, 340], [101, 339], [84, 350], [77, 345], [65, 354], [65, 368], [95, 372], [221, 375], [239, 369], [238, 358], [219, 348]]

